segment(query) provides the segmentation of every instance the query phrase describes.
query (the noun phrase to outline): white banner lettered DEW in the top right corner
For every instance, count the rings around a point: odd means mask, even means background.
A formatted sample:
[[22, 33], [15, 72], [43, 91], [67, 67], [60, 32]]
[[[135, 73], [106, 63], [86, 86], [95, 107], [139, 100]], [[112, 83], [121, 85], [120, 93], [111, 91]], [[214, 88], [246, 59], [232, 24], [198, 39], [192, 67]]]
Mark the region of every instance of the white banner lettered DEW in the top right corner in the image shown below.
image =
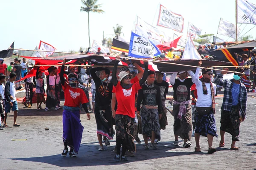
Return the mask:
[[238, 0], [237, 23], [256, 24], [256, 5], [247, 0]]

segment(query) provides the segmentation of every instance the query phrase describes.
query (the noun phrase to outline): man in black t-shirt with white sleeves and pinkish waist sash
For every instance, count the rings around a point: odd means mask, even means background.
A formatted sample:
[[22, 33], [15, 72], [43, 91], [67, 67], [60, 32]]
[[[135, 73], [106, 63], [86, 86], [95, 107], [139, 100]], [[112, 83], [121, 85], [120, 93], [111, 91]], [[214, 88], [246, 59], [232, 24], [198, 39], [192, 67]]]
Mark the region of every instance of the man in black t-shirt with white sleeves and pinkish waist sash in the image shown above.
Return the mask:
[[[192, 78], [187, 78], [188, 75]], [[174, 146], [179, 146], [178, 137], [184, 139], [183, 147], [191, 147], [190, 141], [192, 136], [192, 112], [190, 102], [190, 88], [193, 85], [195, 74], [192, 71], [182, 71], [180, 76], [175, 79], [177, 73], [173, 73], [170, 78], [170, 83], [173, 88], [173, 115], [174, 125], [173, 131], [175, 136]]]

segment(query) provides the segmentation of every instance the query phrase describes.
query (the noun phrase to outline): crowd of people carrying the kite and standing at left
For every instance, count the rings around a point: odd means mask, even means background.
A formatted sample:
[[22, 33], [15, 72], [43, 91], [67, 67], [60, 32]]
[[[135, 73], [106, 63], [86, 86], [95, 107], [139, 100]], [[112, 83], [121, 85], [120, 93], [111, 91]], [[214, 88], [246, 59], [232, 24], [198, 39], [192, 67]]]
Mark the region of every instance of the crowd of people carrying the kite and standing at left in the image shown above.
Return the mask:
[[[8, 127], [6, 119], [11, 109], [14, 111], [13, 126], [20, 126], [16, 122], [18, 105], [15, 92], [25, 87], [26, 102], [23, 104], [31, 108], [34, 83], [38, 111], [43, 110], [42, 103], [46, 104], [45, 111], [49, 111], [50, 108], [60, 109], [61, 93], [64, 93], [64, 150], [61, 156], [65, 157], [69, 152], [69, 156], [74, 157], [79, 152], [84, 129], [80, 121], [82, 108], [88, 120], [90, 120], [90, 113], [94, 112], [99, 151], [105, 150], [103, 143], [106, 147], [110, 147], [109, 139], [115, 136], [115, 161], [127, 161], [126, 156], [134, 156], [136, 152], [134, 141], [141, 143], [138, 133], [143, 135], [145, 150], [150, 148], [157, 150], [157, 144], [161, 140], [161, 130], [165, 130], [170, 124], [165, 107], [169, 83], [163, 80], [162, 72], [148, 71], [147, 60], [143, 60], [144, 70], [136, 63], [132, 63], [133, 68], [124, 66], [118, 70], [120, 60], [121, 58], [116, 59], [111, 74], [109, 68], [102, 67], [88, 68], [86, 65], [80, 67], [69, 65], [67, 68], [66, 59], [64, 59], [60, 69], [48, 68], [46, 90], [40, 67], [37, 68], [35, 77], [24, 79], [24, 85], [19, 82], [15, 83], [15, 81], [31, 71], [32, 67], [26, 64], [26, 60], [23, 59], [24, 64], [22, 64], [15, 59], [13, 68], [9, 68], [9, 72], [7, 66], [0, 64], [0, 68], [5, 69], [3, 73], [0, 69], [0, 113], [3, 126]], [[198, 67], [201, 64], [202, 61], [198, 62]], [[208, 153], [216, 152], [212, 141], [214, 136], [218, 136], [215, 124], [215, 95], [216, 85], [219, 85], [224, 88], [219, 147], [224, 147], [224, 134], [227, 132], [232, 135], [230, 149], [239, 149], [235, 143], [239, 141], [240, 122], [246, 117], [247, 88], [241, 83], [245, 72], [244, 68], [236, 68], [233, 79], [226, 80], [223, 79], [223, 75], [227, 73], [227, 69], [224, 69], [220, 74], [215, 75], [215, 83], [213, 83], [211, 68], [197, 68], [195, 73], [180, 71], [172, 74], [169, 82], [174, 91], [172, 99], [174, 146], [180, 146], [180, 137], [183, 139], [184, 148], [192, 147], [190, 140], [194, 134], [195, 152], [201, 152], [200, 136], [208, 138]], [[92, 106], [89, 102], [90, 89]], [[150, 144], [149, 141], [151, 141]]]

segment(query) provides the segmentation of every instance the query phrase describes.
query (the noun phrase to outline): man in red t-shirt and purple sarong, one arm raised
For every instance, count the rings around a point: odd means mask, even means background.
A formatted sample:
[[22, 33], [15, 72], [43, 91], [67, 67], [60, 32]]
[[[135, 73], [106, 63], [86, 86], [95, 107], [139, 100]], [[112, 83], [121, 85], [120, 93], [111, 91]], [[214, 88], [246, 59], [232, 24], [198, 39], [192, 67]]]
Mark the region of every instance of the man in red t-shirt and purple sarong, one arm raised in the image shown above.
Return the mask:
[[[65, 157], [68, 153], [67, 146], [70, 147], [70, 157], [76, 156], [81, 144], [82, 133], [84, 127], [81, 125], [80, 120], [80, 105], [83, 106], [84, 111], [87, 113], [87, 120], [90, 120], [90, 114], [87, 109], [86, 103], [88, 102], [84, 91], [78, 88], [78, 77], [74, 73], [68, 75], [68, 82], [65, 82], [63, 77], [66, 59], [63, 59], [61, 66], [61, 85], [64, 91], [65, 103], [63, 108], [63, 142], [64, 150], [61, 156]], [[75, 153], [74, 153], [75, 152]]]

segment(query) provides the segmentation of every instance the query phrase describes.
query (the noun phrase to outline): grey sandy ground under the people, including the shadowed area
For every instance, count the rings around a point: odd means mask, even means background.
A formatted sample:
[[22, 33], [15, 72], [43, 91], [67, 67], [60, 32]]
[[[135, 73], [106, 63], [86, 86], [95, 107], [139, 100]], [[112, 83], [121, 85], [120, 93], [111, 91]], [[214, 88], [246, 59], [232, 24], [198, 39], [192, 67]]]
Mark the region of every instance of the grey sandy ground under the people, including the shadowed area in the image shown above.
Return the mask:
[[[20, 94], [22, 95], [22, 94]], [[222, 99], [216, 99], [216, 123], [220, 127], [220, 108]], [[63, 105], [64, 101], [61, 101]], [[166, 104], [170, 107], [169, 104]], [[225, 147], [217, 148], [215, 154], [207, 154], [207, 138], [201, 137], [202, 153], [195, 153], [195, 139], [192, 137], [192, 147], [174, 147], [173, 122], [168, 113], [169, 125], [161, 131], [161, 141], [158, 150], [143, 150], [142, 144], [137, 144], [135, 157], [129, 157], [128, 162], [113, 161], [115, 140], [106, 151], [97, 151], [96, 122], [94, 114], [87, 121], [81, 114], [84, 126], [83, 138], [79, 155], [76, 158], [61, 157], [64, 148], [62, 142], [62, 110], [36, 111], [36, 105], [31, 109], [19, 104], [17, 122], [20, 127], [9, 127], [0, 130], [2, 147], [0, 149], [0, 170], [82, 170], [82, 169], [224, 169], [224, 170], [253, 170], [256, 169], [255, 114], [256, 99], [248, 98], [247, 119], [241, 123], [239, 150], [230, 150], [231, 136], [226, 135]], [[83, 112], [84, 113], [84, 112]], [[7, 123], [12, 125], [13, 113], [9, 113]], [[49, 130], [45, 130], [48, 127]], [[139, 135], [143, 139], [142, 135]], [[219, 137], [220, 138], [220, 137]], [[26, 139], [12, 141], [12, 139]], [[218, 147], [220, 139], [214, 138], [213, 146]], [[180, 142], [182, 140], [180, 139]]]

